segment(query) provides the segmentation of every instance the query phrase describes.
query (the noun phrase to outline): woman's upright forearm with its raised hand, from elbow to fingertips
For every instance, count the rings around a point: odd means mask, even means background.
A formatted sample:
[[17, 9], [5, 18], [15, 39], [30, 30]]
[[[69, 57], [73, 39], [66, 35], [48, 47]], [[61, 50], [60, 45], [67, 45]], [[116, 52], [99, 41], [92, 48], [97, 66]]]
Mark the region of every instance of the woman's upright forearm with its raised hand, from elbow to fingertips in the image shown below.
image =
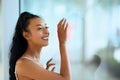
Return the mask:
[[62, 19], [58, 24], [58, 39], [61, 55], [60, 74], [65, 80], [70, 80], [70, 70], [66, 53], [67, 27], [68, 23], [66, 23], [66, 19]]

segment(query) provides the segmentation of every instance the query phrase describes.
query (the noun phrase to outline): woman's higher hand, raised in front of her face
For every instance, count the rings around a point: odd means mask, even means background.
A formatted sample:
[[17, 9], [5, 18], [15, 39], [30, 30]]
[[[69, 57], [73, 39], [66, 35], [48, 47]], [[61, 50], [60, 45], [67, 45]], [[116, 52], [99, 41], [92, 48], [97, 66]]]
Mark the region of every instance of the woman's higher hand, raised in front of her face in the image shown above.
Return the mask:
[[60, 20], [58, 23], [58, 39], [60, 44], [65, 44], [66, 38], [67, 38], [67, 28], [68, 23], [66, 22], [66, 19]]

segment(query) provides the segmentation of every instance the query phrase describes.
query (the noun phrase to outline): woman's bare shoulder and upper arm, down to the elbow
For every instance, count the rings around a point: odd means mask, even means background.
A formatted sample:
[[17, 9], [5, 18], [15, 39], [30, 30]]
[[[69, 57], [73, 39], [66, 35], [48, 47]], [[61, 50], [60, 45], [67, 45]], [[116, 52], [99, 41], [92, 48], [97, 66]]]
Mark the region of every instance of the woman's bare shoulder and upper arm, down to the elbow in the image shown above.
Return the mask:
[[16, 63], [16, 70], [18, 75], [34, 80], [64, 80], [62, 75], [48, 71], [28, 59], [19, 59]]

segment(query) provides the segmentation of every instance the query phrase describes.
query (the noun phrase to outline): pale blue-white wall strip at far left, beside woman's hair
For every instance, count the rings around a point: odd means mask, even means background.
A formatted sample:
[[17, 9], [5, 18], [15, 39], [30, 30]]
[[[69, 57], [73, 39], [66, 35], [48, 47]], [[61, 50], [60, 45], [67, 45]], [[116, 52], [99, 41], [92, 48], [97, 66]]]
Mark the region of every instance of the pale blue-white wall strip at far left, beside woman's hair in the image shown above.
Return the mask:
[[12, 34], [19, 16], [19, 0], [2, 0], [4, 80], [9, 80], [8, 53]]

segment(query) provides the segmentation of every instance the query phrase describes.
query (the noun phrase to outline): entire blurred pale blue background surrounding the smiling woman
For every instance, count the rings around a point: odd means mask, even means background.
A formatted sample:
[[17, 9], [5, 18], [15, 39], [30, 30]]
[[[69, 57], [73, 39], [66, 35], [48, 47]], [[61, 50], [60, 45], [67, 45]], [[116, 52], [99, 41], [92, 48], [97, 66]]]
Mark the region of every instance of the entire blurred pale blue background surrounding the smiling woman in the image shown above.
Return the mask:
[[49, 27], [49, 46], [40, 60], [44, 67], [53, 57], [59, 73], [56, 27], [64, 17], [72, 80], [120, 80], [120, 0], [0, 0], [0, 80], [8, 80], [9, 45], [24, 11], [41, 16]]

